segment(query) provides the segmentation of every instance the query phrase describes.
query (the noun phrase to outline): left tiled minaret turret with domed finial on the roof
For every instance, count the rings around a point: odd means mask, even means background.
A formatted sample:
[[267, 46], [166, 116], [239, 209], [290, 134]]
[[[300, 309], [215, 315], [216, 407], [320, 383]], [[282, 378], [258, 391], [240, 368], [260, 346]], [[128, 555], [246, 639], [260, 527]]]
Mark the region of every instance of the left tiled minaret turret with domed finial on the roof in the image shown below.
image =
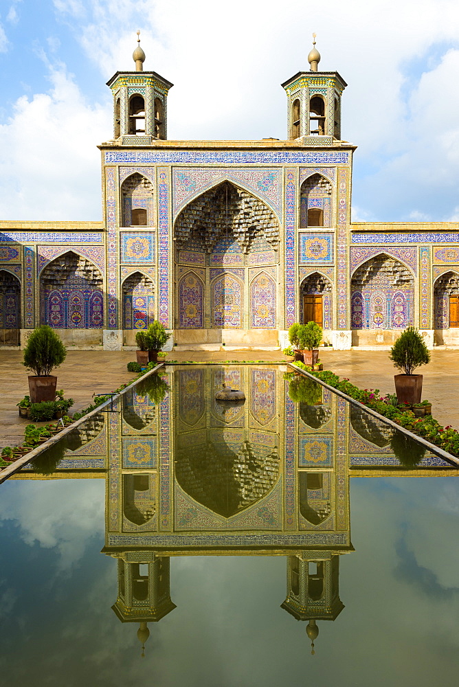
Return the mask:
[[113, 137], [123, 146], [145, 146], [167, 138], [167, 96], [173, 84], [144, 71], [139, 31], [133, 60], [135, 71], [117, 71], [107, 81], [113, 93]]

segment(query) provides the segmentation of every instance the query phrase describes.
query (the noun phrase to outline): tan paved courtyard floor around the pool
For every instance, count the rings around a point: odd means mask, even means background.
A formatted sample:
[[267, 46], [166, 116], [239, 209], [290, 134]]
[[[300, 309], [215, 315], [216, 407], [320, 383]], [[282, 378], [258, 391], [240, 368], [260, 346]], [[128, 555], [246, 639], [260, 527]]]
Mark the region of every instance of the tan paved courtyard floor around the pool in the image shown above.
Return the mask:
[[[177, 351], [168, 357], [177, 361], [225, 361], [284, 359], [280, 351]], [[363, 388], [394, 392], [394, 367], [388, 351], [335, 351], [321, 349], [324, 368], [348, 377]], [[58, 388], [74, 398], [72, 412], [89, 405], [94, 393], [115, 390], [133, 378], [126, 363], [134, 351], [69, 350], [65, 363], [56, 370]], [[19, 350], [0, 350], [0, 447], [17, 444], [29, 420], [19, 418], [16, 403], [28, 394], [27, 371]], [[433, 350], [432, 362], [419, 372], [424, 375], [423, 398], [432, 401], [432, 412], [443, 425], [459, 427], [459, 351]]]

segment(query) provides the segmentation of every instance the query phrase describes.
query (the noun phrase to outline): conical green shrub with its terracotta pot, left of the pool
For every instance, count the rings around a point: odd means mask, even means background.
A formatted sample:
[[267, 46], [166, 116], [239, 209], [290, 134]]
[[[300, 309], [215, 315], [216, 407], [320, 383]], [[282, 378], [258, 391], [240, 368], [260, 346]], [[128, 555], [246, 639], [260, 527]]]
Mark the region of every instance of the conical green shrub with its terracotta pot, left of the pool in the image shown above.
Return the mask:
[[29, 376], [30, 403], [54, 401], [57, 377], [51, 372], [65, 361], [67, 351], [63, 342], [51, 327], [43, 324], [27, 339], [23, 365], [35, 372]]

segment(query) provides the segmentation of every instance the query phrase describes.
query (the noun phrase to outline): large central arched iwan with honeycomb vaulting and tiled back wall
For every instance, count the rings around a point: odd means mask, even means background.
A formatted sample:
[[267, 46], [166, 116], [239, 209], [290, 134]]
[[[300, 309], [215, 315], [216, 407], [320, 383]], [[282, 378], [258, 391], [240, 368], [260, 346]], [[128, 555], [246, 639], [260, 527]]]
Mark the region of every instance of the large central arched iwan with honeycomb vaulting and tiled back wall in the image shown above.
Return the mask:
[[181, 211], [174, 240], [175, 328], [214, 330], [221, 341], [221, 330], [276, 327], [276, 268], [262, 267], [278, 262], [268, 205], [223, 181]]

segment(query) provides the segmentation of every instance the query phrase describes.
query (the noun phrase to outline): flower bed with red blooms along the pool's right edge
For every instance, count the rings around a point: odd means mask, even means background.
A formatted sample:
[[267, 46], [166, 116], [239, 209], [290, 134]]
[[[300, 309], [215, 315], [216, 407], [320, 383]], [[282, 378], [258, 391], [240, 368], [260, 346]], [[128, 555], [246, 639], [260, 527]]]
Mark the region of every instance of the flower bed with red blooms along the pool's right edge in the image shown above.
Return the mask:
[[440, 449], [459, 457], [459, 431], [451, 425], [443, 427], [432, 415], [417, 418], [411, 410], [393, 405], [390, 402], [392, 400], [390, 396], [379, 396], [379, 389], [359, 389], [348, 379], [339, 379], [339, 376], [331, 370], [312, 370], [301, 362], [296, 362], [295, 366], [301, 370], [306, 370], [309, 374], [347, 394], [350, 398], [354, 398], [362, 405], [375, 410], [383, 417], [392, 420], [396, 425], [422, 436]]

